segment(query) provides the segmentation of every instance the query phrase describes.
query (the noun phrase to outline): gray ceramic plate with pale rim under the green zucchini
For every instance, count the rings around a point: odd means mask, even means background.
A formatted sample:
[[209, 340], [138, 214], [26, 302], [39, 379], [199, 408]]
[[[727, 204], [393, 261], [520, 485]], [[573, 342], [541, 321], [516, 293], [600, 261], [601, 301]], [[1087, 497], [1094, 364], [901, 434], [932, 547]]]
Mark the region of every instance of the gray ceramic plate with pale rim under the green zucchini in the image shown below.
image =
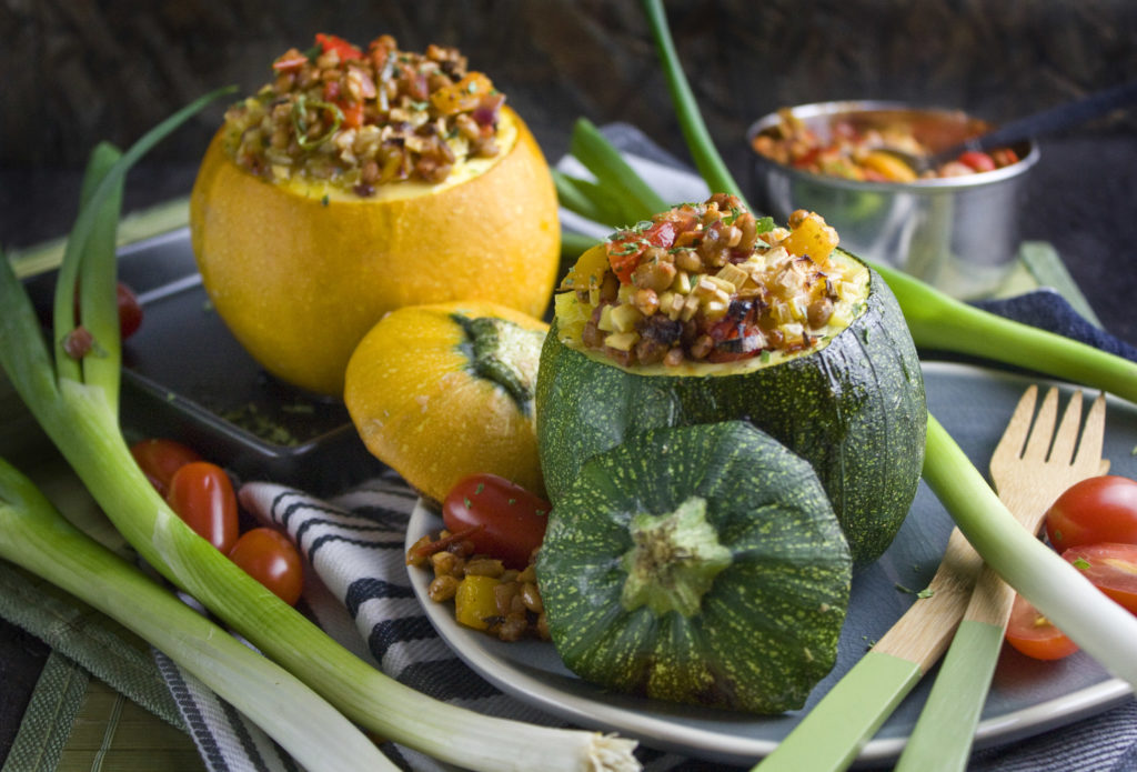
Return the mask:
[[[926, 363], [928, 407], [980, 470], [986, 470], [1022, 390], [1032, 382], [969, 365]], [[1064, 392], [1069, 389], [1063, 388]], [[1112, 400], [1105, 432], [1111, 472], [1137, 476], [1137, 409]], [[438, 516], [418, 506], [410, 518], [407, 545], [440, 526]], [[503, 691], [581, 727], [617, 731], [645, 745], [698, 758], [753, 764], [770, 753], [829, 688], [888, 630], [931, 579], [952, 522], [921, 483], [912, 512], [896, 541], [873, 565], [861, 571], [833, 671], [814, 689], [799, 712], [755, 717], [613, 695], [570, 673], [550, 644], [503, 644], [459, 626], [449, 605], [425, 599], [428, 576], [410, 571], [410, 581], [439, 634], [473, 670]], [[1005, 647], [1004, 647], [1005, 648]], [[899, 755], [931, 688], [932, 671], [862, 749], [858, 764], [886, 763]], [[1124, 700], [1128, 684], [1111, 678], [1085, 654], [1056, 663], [1028, 659], [1004, 650], [978, 728], [976, 747], [1015, 739], [1071, 723]]]

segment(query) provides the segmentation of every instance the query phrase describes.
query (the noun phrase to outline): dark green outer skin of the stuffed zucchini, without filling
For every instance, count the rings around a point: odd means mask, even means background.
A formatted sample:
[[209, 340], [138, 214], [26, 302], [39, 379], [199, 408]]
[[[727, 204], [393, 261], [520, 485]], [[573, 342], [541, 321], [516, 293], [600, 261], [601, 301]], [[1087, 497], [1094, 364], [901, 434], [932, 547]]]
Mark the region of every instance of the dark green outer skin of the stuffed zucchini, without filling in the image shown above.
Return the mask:
[[824, 348], [748, 373], [640, 375], [564, 346], [541, 350], [537, 441], [557, 503], [581, 464], [655, 426], [747, 420], [813, 464], [856, 563], [891, 543], [915, 497], [927, 406], [896, 298], [870, 271], [864, 312]]

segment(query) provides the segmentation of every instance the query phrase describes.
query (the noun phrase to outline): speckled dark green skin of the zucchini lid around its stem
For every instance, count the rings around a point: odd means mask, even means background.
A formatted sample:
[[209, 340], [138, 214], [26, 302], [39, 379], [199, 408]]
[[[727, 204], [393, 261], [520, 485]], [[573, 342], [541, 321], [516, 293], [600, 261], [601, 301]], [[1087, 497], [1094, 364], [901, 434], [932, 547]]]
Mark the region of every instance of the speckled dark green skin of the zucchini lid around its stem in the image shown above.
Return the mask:
[[[694, 613], [629, 608], [633, 517], [691, 496], [729, 564]], [[832, 667], [852, 559], [808, 463], [732, 421], [654, 430], [592, 457], [553, 509], [537, 575], [553, 642], [582, 679], [770, 714], [800, 707]]]

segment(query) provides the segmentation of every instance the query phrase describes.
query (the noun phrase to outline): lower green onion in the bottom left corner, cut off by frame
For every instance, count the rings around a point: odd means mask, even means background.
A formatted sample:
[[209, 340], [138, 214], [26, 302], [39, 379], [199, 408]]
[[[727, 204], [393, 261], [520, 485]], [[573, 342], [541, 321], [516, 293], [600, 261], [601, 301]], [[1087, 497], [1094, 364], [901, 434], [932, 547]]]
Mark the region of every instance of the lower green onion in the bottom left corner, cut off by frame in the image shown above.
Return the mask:
[[264, 729], [305, 769], [398, 769], [312, 689], [64, 520], [2, 459], [0, 557], [144, 638]]

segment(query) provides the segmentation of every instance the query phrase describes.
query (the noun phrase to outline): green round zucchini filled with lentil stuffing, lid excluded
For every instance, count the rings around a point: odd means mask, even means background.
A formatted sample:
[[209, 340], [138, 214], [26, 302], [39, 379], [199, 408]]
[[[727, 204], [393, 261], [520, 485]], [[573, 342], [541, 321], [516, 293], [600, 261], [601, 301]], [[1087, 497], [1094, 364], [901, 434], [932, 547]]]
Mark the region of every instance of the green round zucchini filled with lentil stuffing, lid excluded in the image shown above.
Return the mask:
[[586, 251], [556, 296], [537, 433], [554, 503], [584, 459], [655, 426], [741, 418], [808, 460], [865, 563], [915, 496], [927, 409], [883, 280], [815, 214], [713, 196]]

